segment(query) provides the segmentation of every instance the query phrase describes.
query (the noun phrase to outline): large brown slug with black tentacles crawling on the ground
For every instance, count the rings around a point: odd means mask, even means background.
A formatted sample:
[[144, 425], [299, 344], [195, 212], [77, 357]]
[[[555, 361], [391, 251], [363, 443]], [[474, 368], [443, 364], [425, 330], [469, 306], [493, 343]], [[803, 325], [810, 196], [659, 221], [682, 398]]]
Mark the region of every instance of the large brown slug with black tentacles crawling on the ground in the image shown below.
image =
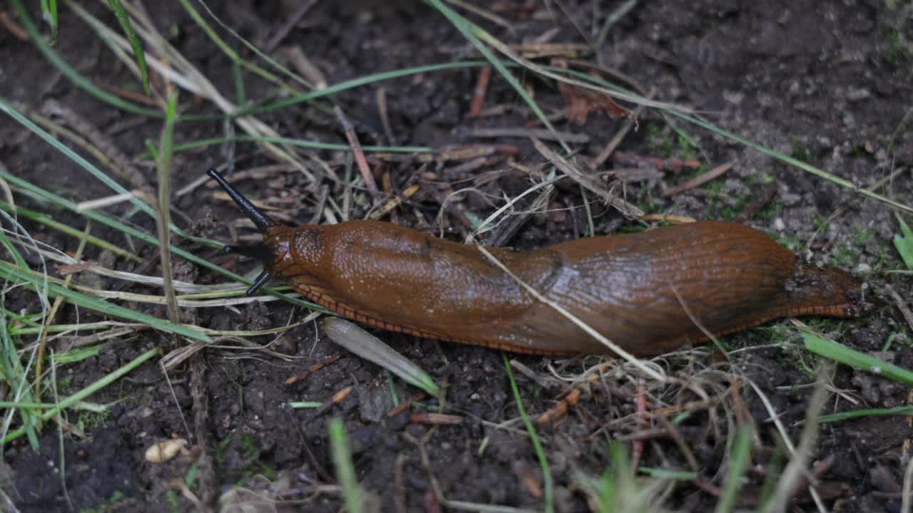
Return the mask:
[[[262, 245], [235, 248], [265, 261], [248, 294], [275, 275], [311, 301], [383, 330], [515, 352], [608, 351], [476, 246], [377, 221], [278, 225], [215, 170], [208, 174], [263, 232]], [[734, 223], [488, 251], [637, 356], [707, 340], [683, 303], [714, 335], [782, 317], [855, 317], [864, 309], [855, 277], [805, 264], [767, 234]]]

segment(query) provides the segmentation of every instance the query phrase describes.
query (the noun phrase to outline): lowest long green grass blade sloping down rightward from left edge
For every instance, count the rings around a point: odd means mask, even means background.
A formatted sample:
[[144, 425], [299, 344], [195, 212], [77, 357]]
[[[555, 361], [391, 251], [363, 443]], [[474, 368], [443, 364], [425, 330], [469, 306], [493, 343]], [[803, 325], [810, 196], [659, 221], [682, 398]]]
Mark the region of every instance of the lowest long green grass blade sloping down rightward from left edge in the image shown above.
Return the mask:
[[[25, 271], [20, 267], [15, 267], [3, 260], [0, 260], [0, 277], [18, 283], [28, 283], [34, 287], [41, 287], [43, 285], [42, 282], [45, 281], [41, 277], [37, 277], [34, 274]], [[158, 319], [136, 310], [125, 309], [119, 305], [109, 303], [104, 299], [92, 298], [80, 292], [62, 287], [57, 283], [47, 282], [45, 285], [47, 285], [47, 295], [49, 297], [62, 296], [73, 305], [92, 309], [105, 315], [119, 317], [121, 319], [130, 319], [134, 322], [142, 322], [155, 330], [177, 333], [194, 340], [203, 340], [205, 342], [211, 341], [205, 333], [187, 326], [174, 324], [173, 322], [164, 319]]]

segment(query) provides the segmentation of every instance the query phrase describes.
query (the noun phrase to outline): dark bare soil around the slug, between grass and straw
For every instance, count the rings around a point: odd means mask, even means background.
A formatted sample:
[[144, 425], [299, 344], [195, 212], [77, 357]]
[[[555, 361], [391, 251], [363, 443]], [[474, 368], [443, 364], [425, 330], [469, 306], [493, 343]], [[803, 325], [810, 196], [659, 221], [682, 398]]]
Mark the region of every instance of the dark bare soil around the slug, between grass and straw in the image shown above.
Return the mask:
[[[37, 3], [36, 3], [37, 4]], [[152, 18], [184, 56], [194, 62], [227, 98], [235, 95], [231, 62], [219, 52], [205, 34], [186, 15], [178, 3], [147, 3]], [[299, 46], [310, 60], [334, 84], [385, 70], [478, 58], [477, 53], [446, 19], [431, 7], [419, 2], [340, 3], [318, 2], [299, 26], [286, 37], [282, 47]], [[513, 3], [499, 3], [514, 5]], [[509, 20], [513, 31], [470, 16], [493, 35], [508, 44], [530, 41], [551, 29], [558, 32], [553, 42], [585, 43], [580, 30], [592, 41], [593, 26], [602, 25], [604, 16], [619, 3], [597, 2], [599, 16], [593, 18], [590, 2], [561, 2], [536, 5], [534, 10], [498, 12]], [[738, 4], [738, 3], [736, 3]], [[656, 0], [641, 2], [616, 23], [595, 55], [584, 57], [605, 68], [615, 68], [655, 92], [655, 98], [693, 106], [703, 117], [720, 127], [734, 131], [751, 141], [778, 152], [813, 163], [829, 173], [865, 187], [899, 171], [893, 180], [878, 190], [900, 203], [913, 204], [913, 135], [904, 125], [905, 113], [913, 98], [911, 49], [913, 21], [909, 5], [893, 7], [890, 2], [752, 2], [736, 5], [708, 0], [677, 2]], [[211, 3], [226, 25], [243, 37], [262, 43], [276, 33], [297, 7], [293, 2], [233, 2], [231, 8]], [[514, 5], [519, 6], [520, 4]], [[100, 5], [89, 6], [97, 16], [117, 29], [117, 22]], [[13, 15], [7, 10], [7, 15]], [[32, 16], [37, 19], [37, 13]], [[205, 15], [204, 15], [205, 16]], [[209, 18], [207, 18], [209, 19]], [[122, 88], [135, 84], [130, 71], [114, 58], [100, 39], [91, 34], [73, 12], [61, 11], [61, 28], [57, 50], [74, 68], [96, 84]], [[215, 24], [214, 24], [215, 25]], [[234, 39], [220, 31], [236, 47]], [[907, 46], [905, 46], [907, 45]], [[245, 50], [239, 50], [246, 54]], [[278, 53], [277, 53], [278, 55]], [[136, 157], [145, 152], [145, 141], [158, 141], [161, 122], [116, 110], [100, 102], [66, 77], [42, 57], [37, 48], [16, 38], [9, 29], [0, 30], [0, 96], [12, 100], [23, 110], [38, 110], [47, 99], [56, 99], [76, 111], [89, 124], [100, 128], [124, 154]], [[526, 166], [542, 162], [530, 142], [524, 138], [478, 139], [467, 135], [470, 129], [485, 127], [524, 127], [535, 121], [534, 115], [516, 92], [498, 73], [492, 75], [485, 106], [507, 106], [504, 113], [481, 120], [467, 117], [469, 103], [476, 87], [478, 68], [430, 72], [403, 79], [374, 83], [331, 97], [325, 105], [338, 104], [356, 124], [362, 144], [394, 144], [443, 147], [462, 144], [501, 144], [519, 148], [516, 160]], [[245, 73], [247, 98], [263, 98], [271, 89], [262, 79]], [[537, 101], [547, 112], [557, 112], [563, 100], [553, 84], [524, 76]], [[383, 120], [378, 114], [378, 89], [386, 95], [387, 111], [394, 141], [386, 141]], [[194, 103], [187, 92], [181, 96], [185, 113], [217, 113], [206, 103]], [[268, 121], [288, 137], [345, 142], [339, 123], [331, 110], [299, 104], [280, 113], [267, 114]], [[907, 120], [909, 121], [909, 120]], [[578, 126], [559, 121], [560, 131], [589, 136], [589, 142], [575, 149], [593, 156], [603, 149], [624, 120], [611, 120], [593, 112]], [[223, 135], [223, 125], [214, 122], [184, 122], [175, 131], [175, 141], [191, 141]], [[650, 181], [627, 183], [629, 201], [650, 212], [688, 215], [697, 219], [727, 219], [740, 215], [750, 204], [767, 194], [769, 201], [749, 212], [747, 223], [767, 231], [803, 257], [843, 267], [863, 277], [878, 296], [886, 284], [909, 302], [911, 278], [888, 275], [887, 270], [902, 268], [890, 245], [897, 232], [894, 212], [885, 204], [854, 191], [805, 173], [774, 160], [746, 146], [712, 136], [706, 131], [677, 121], [699, 148], [695, 149], [670, 129], [660, 117], [646, 110], [639, 119], [638, 130], [628, 135], [619, 151], [655, 157], [696, 157], [705, 169], [722, 162], [736, 162], [732, 171], [699, 190], [686, 191], [662, 198], [664, 187], [682, 183], [689, 172], [654, 173]], [[239, 132], [240, 133], [240, 132]], [[81, 154], [88, 154], [77, 149]], [[226, 160], [225, 147], [208, 147], [175, 156], [173, 190], [199, 178], [207, 167]], [[256, 146], [238, 143], [233, 150], [236, 171], [271, 163]], [[343, 153], [319, 152], [331, 162], [333, 171], [344, 176]], [[0, 120], [0, 162], [11, 172], [75, 202], [96, 199], [110, 190], [88, 177], [14, 120]], [[401, 192], [422, 176], [434, 183], [449, 183], [452, 190], [472, 185], [463, 181], [483, 171], [502, 172], [488, 183], [477, 183], [497, 203], [504, 194], [515, 195], [529, 186], [520, 173], [509, 172], [506, 161], [494, 161], [475, 171], [463, 171], [463, 162], [437, 162], [422, 167], [420, 162], [404, 159], [375, 167], [388, 172], [395, 191]], [[630, 164], [612, 163], [616, 168]], [[152, 166], [140, 165], [143, 177], [154, 183]], [[351, 168], [350, 168], [351, 169]], [[464, 168], [465, 169], [465, 168]], [[357, 173], [357, 172], [356, 172]], [[378, 178], [382, 178], [378, 174]], [[301, 173], [290, 168], [272, 173], [268, 180], [238, 182], [238, 187], [252, 197], [269, 202], [279, 198], [281, 215], [299, 223], [314, 218], [320, 185], [331, 187], [331, 195], [340, 194], [336, 183], [323, 178], [320, 183], [303, 183]], [[772, 187], [772, 194], [767, 190]], [[387, 218], [394, 222], [428, 229], [435, 218], [439, 200], [424, 187], [403, 207]], [[238, 234], [250, 234], [247, 228], [236, 229], [239, 215], [233, 206], [216, 201], [214, 189], [199, 187], [193, 194], [176, 200], [175, 206], [187, 218], [175, 222], [189, 226], [197, 223], [202, 236], [231, 241]], [[446, 191], [444, 192], [446, 194]], [[19, 204], [41, 208], [25, 195], [17, 195]], [[370, 202], [369, 198], [369, 202]], [[463, 194], [447, 202], [444, 223], [446, 236], [461, 239], [464, 227], [456, 220], [460, 210], [488, 216], [494, 208], [479, 194]], [[579, 189], [560, 187], [552, 196], [549, 215], [532, 215], [519, 224], [516, 235], [505, 243], [515, 247], [544, 246], [583, 236], [588, 222]], [[47, 207], [46, 207], [47, 208]], [[614, 210], [593, 205], [597, 234], [636, 229]], [[124, 215], [127, 207], [113, 206], [108, 211]], [[365, 205], [355, 205], [352, 218], [367, 213]], [[58, 221], [81, 230], [84, 220], [65, 211], [56, 213]], [[214, 215], [217, 225], [205, 223]], [[280, 215], [280, 216], [281, 216]], [[909, 219], [909, 218], [908, 218]], [[143, 229], [154, 233], [148, 217], [134, 216]], [[909, 220], [908, 220], [909, 223]], [[28, 224], [36, 237], [61, 250], [73, 251], [78, 241], [45, 226]], [[246, 226], [246, 225], [245, 225]], [[230, 228], [230, 229], [229, 229]], [[93, 225], [92, 235], [121, 241], [122, 236]], [[187, 243], [185, 249], [211, 258], [226, 266], [236, 265], [247, 271], [254, 263], [246, 259], [225, 257], [214, 250]], [[140, 247], [142, 257], [157, 259], [151, 247]], [[85, 259], [105, 260], [94, 247]], [[113, 267], [133, 271], [136, 264], [111, 260]], [[157, 261], [157, 260], [156, 260]], [[152, 270], [136, 271], [157, 274]], [[200, 283], [215, 283], [223, 278], [200, 270]], [[142, 288], [116, 280], [101, 283], [102, 288], [123, 287], [130, 291], [161, 294], [161, 289]], [[887, 298], [887, 296], [884, 296]], [[5, 308], [12, 311], [37, 311], [34, 297], [21, 291], [5, 296]], [[147, 309], [147, 307], [138, 307]], [[164, 315], [163, 309], [152, 313]], [[98, 320], [87, 310], [80, 310], [81, 321]], [[281, 302], [270, 302], [240, 309], [196, 309], [195, 322], [215, 330], [259, 330], [279, 326], [289, 319], [300, 319], [306, 312]], [[61, 320], [77, 319], [76, 310], [63, 310]], [[87, 319], [88, 318], [88, 319]], [[827, 331], [841, 342], [860, 351], [875, 352], [879, 358], [908, 369], [913, 368], [913, 351], [909, 348], [910, 328], [899, 311], [888, 300], [886, 304], [862, 319], [841, 322], [811, 319], [819, 330]], [[729, 348], [755, 347], [733, 356], [761, 391], [771, 398], [780, 420], [787, 426], [794, 443], [802, 431], [801, 422], [813, 388], [815, 358], [801, 348], [793, 331], [774, 330], [771, 326], [788, 326], [786, 322], [769, 324], [727, 337]], [[205, 388], [209, 411], [205, 419], [208, 451], [215, 458], [216, 494], [233, 487], [241, 495], [257, 492], [264, 497], [289, 500], [289, 510], [337, 511], [341, 498], [333, 490], [319, 491], [317, 484], [333, 484], [335, 476], [326, 437], [331, 416], [340, 416], [350, 433], [354, 466], [359, 482], [368, 490], [383, 511], [394, 511], [396, 501], [404, 498], [410, 511], [435, 511], [433, 487], [439, 486], [448, 500], [470, 501], [530, 509], [541, 509], [542, 475], [540, 463], [524, 434], [516, 403], [509, 388], [504, 362], [498, 351], [438, 344], [431, 340], [375, 332], [404, 355], [430, 372], [437, 382], [446, 383], [443, 413], [462, 417], [462, 424], [431, 427], [410, 422], [409, 414], [386, 418], [395, 404], [390, 394], [388, 376], [376, 365], [349, 355], [326, 340], [311, 323], [290, 331], [274, 350], [297, 356], [285, 361], [251, 350], [207, 350]], [[784, 333], [785, 339], [784, 339]], [[883, 351], [889, 337], [893, 342]], [[254, 338], [268, 343], [272, 337]], [[167, 351], [170, 338], [149, 331], [129, 340], [105, 344], [100, 354], [87, 361], [61, 368], [66, 389], [78, 391], [107, 372], [119, 368], [152, 347]], [[226, 342], [227, 343], [227, 342]], [[710, 351], [682, 352], [667, 358], [668, 372], [680, 377], [720, 360]], [[288, 385], [285, 380], [331, 355], [341, 359], [319, 372]], [[512, 356], [541, 374], [548, 374], [547, 363], [561, 367], [564, 360], [535, 356]], [[588, 361], [593, 363], [593, 361]], [[579, 372], [584, 361], [573, 360], [565, 372]], [[725, 393], [731, 382], [701, 374], [700, 386], [715, 397]], [[561, 391], [544, 389], [528, 377], [518, 374], [519, 390], [526, 410], [538, 415], [554, 405]], [[95, 424], [83, 425], [87, 438], [64, 435], [65, 478], [61, 476], [58, 434], [55, 424], [47, 424], [35, 453], [26, 440], [5, 446], [5, 490], [22, 511], [53, 510], [190, 510], [194, 503], [181, 489], [189, 482], [190, 490], [199, 489], [200, 480], [187, 479], [194, 474], [194, 458], [199, 455], [198, 441], [192, 449], [166, 464], [144, 460], [145, 448], [172, 436], [188, 437], [184, 422], [194, 424], [194, 399], [189, 367], [163, 378], [155, 360], [92, 396], [95, 403], [117, 402], [110, 414]], [[591, 393], [554, 425], [540, 425], [539, 432], [549, 456], [555, 480], [555, 504], [560, 511], [588, 510], [582, 481], [599, 478], [611, 464], [608, 442], [619, 436], [657, 427], [637, 425], [635, 421], [618, 422], [635, 412], [636, 382], [610, 375], [595, 383]], [[310, 409], [290, 409], [289, 402], [325, 402], [334, 393], [352, 385], [352, 394], [325, 414]], [[863, 407], [886, 408], [908, 404], [909, 387], [876, 376], [854, 372], [838, 366], [834, 374], [834, 394], [824, 413]], [[398, 385], [397, 385], [398, 386]], [[9, 391], [5, 390], [9, 400]], [[415, 393], [398, 387], [400, 400]], [[757, 503], [765, 482], [764, 468], [777, 452], [777, 434], [764, 408], [748, 385], [740, 394], [744, 410], [757, 423], [759, 445], [755, 446], [754, 463], [743, 488], [741, 504]], [[651, 389], [650, 408], [662, 404], [679, 404], [699, 398], [685, 389]], [[856, 403], [850, 403], [851, 398]], [[176, 403], [175, 403], [176, 401]], [[731, 401], [729, 396], [728, 401]], [[438, 404], [425, 399], [413, 412], [436, 412]], [[714, 406], [712, 413], [723, 415]], [[18, 417], [16, 417], [18, 418]], [[70, 422], [78, 415], [69, 414]], [[699, 487], [692, 481], [680, 481], [666, 497], [667, 508], [706, 511], [716, 504], [712, 490], [720, 487], [728, 471], [725, 421], [708, 414], [705, 407], [687, 418], [678, 419], [684, 444], [698, 460]], [[716, 420], [718, 422], [714, 423]], [[498, 426], [507, 421], [510, 424]], [[897, 511], [904, 468], [909, 460], [911, 432], [908, 419], [902, 416], [866, 417], [858, 420], [822, 425], [822, 432], [812, 464], [821, 474], [818, 488], [824, 505], [834, 511]], [[630, 449], [631, 443], [624, 445]], [[777, 456], [779, 457], [779, 456]], [[677, 443], [668, 437], [648, 439], [640, 456], [640, 466], [688, 470], [687, 457]], [[394, 486], [400, 480], [404, 488]], [[66, 485], [66, 494], [64, 493]], [[248, 499], [249, 496], [244, 496]], [[240, 500], [240, 499], [239, 499]], [[792, 502], [795, 510], [814, 510], [810, 498], [798, 493]]]

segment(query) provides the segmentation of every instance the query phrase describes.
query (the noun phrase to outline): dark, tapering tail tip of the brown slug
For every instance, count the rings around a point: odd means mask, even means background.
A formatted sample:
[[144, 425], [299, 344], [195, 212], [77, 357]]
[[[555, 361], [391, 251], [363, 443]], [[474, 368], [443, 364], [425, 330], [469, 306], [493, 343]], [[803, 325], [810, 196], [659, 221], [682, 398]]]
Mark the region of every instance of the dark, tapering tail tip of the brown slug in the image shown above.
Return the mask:
[[859, 317], [877, 304], [860, 279], [835, 267], [796, 262], [783, 293], [785, 316]]

